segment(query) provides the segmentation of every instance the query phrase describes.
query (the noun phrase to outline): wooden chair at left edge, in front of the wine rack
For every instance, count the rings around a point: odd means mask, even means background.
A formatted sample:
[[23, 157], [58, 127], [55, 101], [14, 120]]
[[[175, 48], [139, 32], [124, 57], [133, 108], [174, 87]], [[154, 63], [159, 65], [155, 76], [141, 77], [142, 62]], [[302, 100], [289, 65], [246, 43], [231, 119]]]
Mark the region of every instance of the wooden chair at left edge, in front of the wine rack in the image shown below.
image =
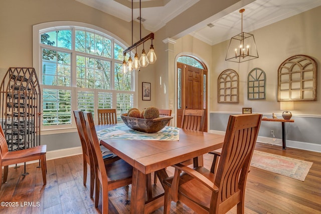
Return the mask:
[[8, 144], [2, 127], [0, 126], [0, 175], [2, 176], [2, 167], [4, 166], [4, 180], [0, 180], [1, 184], [7, 182], [9, 165], [23, 163], [28, 161], [40, 160], [41, 171], [44, 185], [47, 183], [46, 173], [46, 152], [47, 145], [40, 145], [28, 149], [9, 152]]

